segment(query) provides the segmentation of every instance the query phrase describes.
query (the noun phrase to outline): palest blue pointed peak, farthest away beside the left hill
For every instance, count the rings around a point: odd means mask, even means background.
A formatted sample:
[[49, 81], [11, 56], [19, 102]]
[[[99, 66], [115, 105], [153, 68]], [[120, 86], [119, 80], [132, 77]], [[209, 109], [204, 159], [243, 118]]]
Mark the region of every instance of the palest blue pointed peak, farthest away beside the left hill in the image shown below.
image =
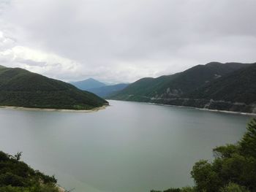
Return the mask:
[[77, 81], [77, 82], [70, 82], [75, 87], [79, 88], [80, 90], [88, 91], [92, 88], [100, 88], [106, 86], [104, 82], [99, 82], [98, 80], [94, 80], [93, 78], [89, 78], [87, 80]]

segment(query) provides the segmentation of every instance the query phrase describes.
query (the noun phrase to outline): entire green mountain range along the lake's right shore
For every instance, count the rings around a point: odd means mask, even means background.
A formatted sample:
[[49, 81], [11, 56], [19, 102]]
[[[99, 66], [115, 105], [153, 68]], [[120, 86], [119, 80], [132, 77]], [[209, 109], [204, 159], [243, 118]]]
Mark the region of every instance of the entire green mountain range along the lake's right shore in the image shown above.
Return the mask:
[[197, 65], [176, 74], [140, 79], [107, 98], [256, 112], [256, 64]]

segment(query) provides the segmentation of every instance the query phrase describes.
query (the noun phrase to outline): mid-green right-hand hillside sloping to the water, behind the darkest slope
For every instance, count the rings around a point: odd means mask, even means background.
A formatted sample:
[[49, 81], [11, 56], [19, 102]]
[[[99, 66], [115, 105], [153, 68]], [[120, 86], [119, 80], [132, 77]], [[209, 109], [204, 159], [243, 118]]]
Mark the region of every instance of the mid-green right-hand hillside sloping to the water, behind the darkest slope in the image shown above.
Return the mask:
[[176, 98], [248, 65], [212, 62], [206, 65], [194, 66], [177, 74], [157, 78], [143, 78], [111, 96], [110, 99], [151, 101], [151, 98]]

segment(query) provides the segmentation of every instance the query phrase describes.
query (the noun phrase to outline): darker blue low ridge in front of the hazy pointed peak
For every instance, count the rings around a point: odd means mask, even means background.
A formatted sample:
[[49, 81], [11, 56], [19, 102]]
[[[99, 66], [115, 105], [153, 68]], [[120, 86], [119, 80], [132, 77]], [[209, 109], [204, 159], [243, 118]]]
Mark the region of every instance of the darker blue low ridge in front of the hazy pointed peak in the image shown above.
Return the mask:
[[116, 85], [108, 85], [100, 88], [91, 88], [87, 91], [96, 94], [97, 96], [100, 96], [102, 98], [105, 98], [106, 96], [110, 96], [112, 94], [115, 94], [117, 91], [121, 91], [122, 89], [126, 88], [129, 84], [127, 83], [119, 83]]

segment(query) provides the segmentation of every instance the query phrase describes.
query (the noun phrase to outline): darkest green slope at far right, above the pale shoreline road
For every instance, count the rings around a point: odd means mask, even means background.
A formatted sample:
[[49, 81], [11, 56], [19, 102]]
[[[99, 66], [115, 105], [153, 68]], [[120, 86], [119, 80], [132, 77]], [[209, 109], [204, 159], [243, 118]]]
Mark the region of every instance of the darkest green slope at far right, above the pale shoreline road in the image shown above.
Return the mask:
[[189, 93], [187, 97], [251, 104], [256, 101], [256, 64], [214, 80]]

